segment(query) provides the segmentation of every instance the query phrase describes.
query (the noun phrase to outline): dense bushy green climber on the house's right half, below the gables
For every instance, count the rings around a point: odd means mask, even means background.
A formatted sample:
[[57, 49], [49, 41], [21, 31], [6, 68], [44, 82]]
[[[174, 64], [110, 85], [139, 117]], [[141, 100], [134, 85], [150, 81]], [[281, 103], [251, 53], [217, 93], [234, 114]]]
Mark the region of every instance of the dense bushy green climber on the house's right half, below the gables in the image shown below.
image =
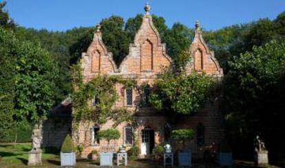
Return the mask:
[[209, 97], [213, 79], [205, 73], [165, 71], [154, 81], [149, 101], [158, 110], [193, 114]]

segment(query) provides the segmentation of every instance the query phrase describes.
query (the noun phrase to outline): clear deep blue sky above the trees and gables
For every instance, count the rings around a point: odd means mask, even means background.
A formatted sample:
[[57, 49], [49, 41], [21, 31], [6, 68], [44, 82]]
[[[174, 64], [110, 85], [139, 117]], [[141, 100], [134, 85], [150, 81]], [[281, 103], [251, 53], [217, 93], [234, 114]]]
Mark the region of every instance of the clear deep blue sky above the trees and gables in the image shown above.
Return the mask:
[[[1, 1], [1, 0], [0, 0]], [[175, 22], [193, 27], [200, 21], [205, 29], [220, 29], [260, 18], [275, 19], [285, 10], [284, 0], [7, 0], [6, 10], [19, 25], [63, 31], [92, 26], [112, 14], [125, 21], [144, 13], [163, 16], [169, 27]]]

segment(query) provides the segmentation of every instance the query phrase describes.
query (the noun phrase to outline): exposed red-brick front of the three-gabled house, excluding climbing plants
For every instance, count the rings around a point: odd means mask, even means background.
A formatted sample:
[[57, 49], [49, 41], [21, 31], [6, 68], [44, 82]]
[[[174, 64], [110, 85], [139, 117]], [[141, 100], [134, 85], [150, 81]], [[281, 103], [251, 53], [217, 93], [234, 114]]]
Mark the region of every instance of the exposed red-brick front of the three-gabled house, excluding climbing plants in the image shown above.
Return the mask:
[[[134, 43], [129, 45], [129, 55], [125, 57], [120, 67], [112, 58], [112, 53], [107, 51], [103, 44], [100, 26], [97, 26], [92, 43], [87, 52], [82, 53], [81, 67], [83, 69], [83, 81], [88, 82], [96, 75], [121, 75], [124, 78], [137, 80], [138, 84], [153, 84], [156, 75], [162, 71], [162, 67], [169, 67], [172, 64], [171, 57], [166, 53], [166, 45], [161, 43], [160, 34], [154, 26], [149, 14], [149, 8], [145, 8], [146, 13], [142, 18], [140, 29], [136, 32]], [[223, 76], [222, 69], [215, 60], [213, 51], [210, 51], [204, 43], [199, 23], [196, 23], [196, 32], [193, 42], [189, 46], [191, 52], [191, 62], [187, 64], [189, 73], [193, 70], [212, 75], [220, 79]], [[134, 113], [134, 123], [123, 122], [116, 127], [120, 131], [121, 137], [116, 141], [115, 146], [121, 144], [131, 147], [135, 143], [140, 148], [140, 156], [151, 154], [155, 145], [168, 141], [168, 132], [171, 129], [169, 119], [162, 112], [156, 112], [149, 106], [138, 107], [138, 99], [142, 99], [138, 91], [134, 88], [125, 88], [123, 85], [116, 85], [119, 99], [114, 108], [125, 107], [129, 110], [136, 110]], [[144, 89], [144, 96], [149, 94]], [[99, 130], [112, 128], [113, 121], [107, 121], [103, 125], [91, 125], [85, 136], [85, 131], [81, 125], [77, 143], [85, 143], [83, 156], [87, 157], [93, 149], [101, 151], [106, 145], [103, 140], [96, 139]], [[183, 117], [176, 125], [176, 128], [192, 128], [196, 130], [196, 139], [189, 143], [193, 156], [201, 157], [203, 147], [211, 143], [219, 143], [222, 136], [222, 126], [220, 113], [218, 111], [218, 99], [215, 99], [198, 112], [198, 115]], [[173, 144], [177, 147], [176, 144]]]

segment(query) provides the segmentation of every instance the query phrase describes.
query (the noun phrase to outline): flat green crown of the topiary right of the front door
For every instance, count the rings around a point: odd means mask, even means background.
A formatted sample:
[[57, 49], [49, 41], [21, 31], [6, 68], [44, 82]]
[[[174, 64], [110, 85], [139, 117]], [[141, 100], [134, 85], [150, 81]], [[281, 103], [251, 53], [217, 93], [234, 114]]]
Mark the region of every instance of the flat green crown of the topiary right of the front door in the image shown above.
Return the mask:
[[191, 141], [195, 132], [192, 129], [172, 130], [171, 137], [176, 141]]

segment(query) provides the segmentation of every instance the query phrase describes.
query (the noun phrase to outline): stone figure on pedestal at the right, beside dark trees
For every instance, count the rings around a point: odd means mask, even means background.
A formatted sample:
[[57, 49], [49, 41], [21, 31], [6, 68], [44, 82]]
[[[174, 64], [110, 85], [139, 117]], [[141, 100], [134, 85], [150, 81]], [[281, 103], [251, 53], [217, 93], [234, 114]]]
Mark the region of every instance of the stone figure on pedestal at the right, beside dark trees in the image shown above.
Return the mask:
[[260, 136], [256, 136], [254, 141], [254, 161], [255, 165], [268, 164], [268, 151], [266, 150], [264, 142]]

